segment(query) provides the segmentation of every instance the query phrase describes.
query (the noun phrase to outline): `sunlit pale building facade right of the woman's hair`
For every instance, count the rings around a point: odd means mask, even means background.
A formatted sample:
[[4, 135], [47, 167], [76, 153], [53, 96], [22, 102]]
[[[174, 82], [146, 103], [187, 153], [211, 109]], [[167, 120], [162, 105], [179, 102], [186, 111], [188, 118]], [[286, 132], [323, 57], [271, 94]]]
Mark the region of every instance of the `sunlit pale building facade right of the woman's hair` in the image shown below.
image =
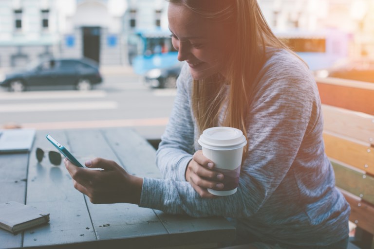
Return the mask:
[[275, 31], [340, 30], [350, 34], [351, 57], [374, 58], [374, 0], [258, 0]]

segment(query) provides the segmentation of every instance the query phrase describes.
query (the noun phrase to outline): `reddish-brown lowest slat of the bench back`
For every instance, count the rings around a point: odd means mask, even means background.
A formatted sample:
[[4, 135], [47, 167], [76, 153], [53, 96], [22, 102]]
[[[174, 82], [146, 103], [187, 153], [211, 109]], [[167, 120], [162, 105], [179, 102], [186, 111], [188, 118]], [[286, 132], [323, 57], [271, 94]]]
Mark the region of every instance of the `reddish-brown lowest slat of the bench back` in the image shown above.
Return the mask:
[[349, 220], [354, 222], [360, 228], [373, 234], [374, 207], [363, 202], [358, 196], [354, 196], [340, 188], [339, 190], [351, 206], [351, 215], [349, 216]]

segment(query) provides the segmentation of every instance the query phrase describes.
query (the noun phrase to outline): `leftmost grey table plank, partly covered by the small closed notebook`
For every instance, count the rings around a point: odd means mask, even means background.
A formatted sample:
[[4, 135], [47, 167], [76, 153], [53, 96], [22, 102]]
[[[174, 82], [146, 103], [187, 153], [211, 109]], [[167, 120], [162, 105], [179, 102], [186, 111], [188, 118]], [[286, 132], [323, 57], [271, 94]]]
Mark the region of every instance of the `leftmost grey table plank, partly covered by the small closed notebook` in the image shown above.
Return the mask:
[[[28, 153], [1, 154], [0, 203], [25, 203]], [[17, 235], [0, 229], [0, 248], [21, 247], [22, 232]]]

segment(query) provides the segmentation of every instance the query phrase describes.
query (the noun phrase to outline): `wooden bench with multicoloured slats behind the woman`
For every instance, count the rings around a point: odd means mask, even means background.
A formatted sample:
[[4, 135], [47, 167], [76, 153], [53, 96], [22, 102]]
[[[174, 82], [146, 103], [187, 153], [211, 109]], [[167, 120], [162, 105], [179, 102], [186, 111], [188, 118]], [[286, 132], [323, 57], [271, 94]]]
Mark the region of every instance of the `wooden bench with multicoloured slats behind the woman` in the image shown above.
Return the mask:
[[326, 154], [355, 224], [349, 248], [374, 249], [374, 84], [317, 78]]

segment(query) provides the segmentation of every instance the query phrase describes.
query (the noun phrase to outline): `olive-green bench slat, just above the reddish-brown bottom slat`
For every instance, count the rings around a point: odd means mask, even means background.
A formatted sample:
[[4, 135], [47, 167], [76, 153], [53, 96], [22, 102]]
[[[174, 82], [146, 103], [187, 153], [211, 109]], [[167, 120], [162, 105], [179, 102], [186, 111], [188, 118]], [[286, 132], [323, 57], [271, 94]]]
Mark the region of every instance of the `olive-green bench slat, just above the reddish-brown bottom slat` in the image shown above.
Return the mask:
[[331, 160], [334, 167], [336, 185], [363, 200], [374, 204], [374, 178], [366, 174], [341, 165], [337, 161]]

